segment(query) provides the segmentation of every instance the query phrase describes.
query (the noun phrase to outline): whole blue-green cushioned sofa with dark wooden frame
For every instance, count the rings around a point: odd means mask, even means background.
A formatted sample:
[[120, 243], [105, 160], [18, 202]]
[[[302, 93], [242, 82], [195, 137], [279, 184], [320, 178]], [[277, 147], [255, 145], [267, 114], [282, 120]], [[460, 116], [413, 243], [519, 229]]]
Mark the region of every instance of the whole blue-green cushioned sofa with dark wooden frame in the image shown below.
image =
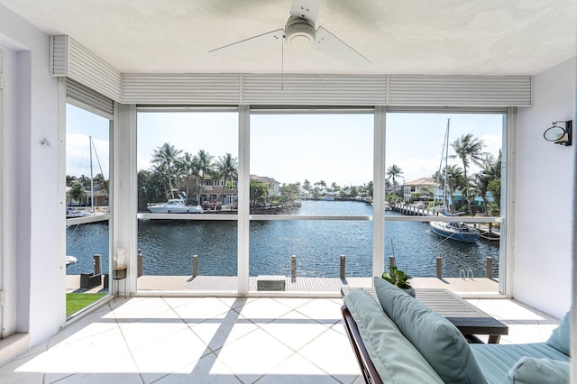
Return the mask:
[[569, 313], [546, 343], [469, 344], [435, 311], [383, 279], [343, 297], [343, 318], [367, 382], [568, 383]]

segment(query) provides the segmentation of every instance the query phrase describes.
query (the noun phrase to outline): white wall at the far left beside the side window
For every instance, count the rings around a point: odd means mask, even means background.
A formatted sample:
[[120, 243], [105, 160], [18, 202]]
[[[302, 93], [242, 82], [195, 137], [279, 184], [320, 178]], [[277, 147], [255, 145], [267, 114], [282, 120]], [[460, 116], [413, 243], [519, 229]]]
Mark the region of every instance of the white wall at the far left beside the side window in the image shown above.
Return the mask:
[[[5, 69], [4, 282], [7, 334], [30, 344], [58, 332], [64, 313], [65, 215], [59, 198], [58, 80], [49, 36], [0, 5]], [[41, 147], [47, 139], [51, 146]], [[61, 225], [58, 224], [61, 220]]]

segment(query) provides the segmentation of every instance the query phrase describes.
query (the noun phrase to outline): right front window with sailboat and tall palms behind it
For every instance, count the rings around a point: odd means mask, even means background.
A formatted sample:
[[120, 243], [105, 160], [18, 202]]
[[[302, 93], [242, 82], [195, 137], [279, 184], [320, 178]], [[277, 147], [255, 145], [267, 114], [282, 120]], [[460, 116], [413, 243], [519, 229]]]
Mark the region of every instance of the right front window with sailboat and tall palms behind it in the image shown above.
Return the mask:
[[[503, 114], [387, 114], [387, 215], [442, 217], [431, 223], [386, 221], [386, 264], [396, 257], [412, 276], [499, 276]], [[394, 247], [394, 249], [393, 249]]]

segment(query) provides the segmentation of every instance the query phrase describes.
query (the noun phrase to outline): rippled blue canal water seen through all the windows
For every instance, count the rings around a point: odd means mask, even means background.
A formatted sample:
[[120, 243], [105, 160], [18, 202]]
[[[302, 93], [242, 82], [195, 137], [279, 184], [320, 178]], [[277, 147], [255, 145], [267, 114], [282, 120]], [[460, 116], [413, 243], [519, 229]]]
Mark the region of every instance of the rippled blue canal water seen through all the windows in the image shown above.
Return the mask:
[[[372, 215], [372, 206], [358, 202], [303, 201], [296, 215]], [[396, 215], [388, 212], [387, 215]], [[201, 275], [234, 276], [237, 272], [236, 223], [231, 221], [139, 220], [138, 248], [145, 275], [190, 275], [198, 255]], [[486, 259], [494, 258], [499, 276], [499, 245], [444, 241], [426, 223], [387, 222], [385, 256], [394, 254], [400, 269], [414, 277], [435, 277], [435, 259], [443, 257], [444, 277], [460, 270], [485, 275]], [[82, 224], [67, 230], [67, 254], [78, 258], [68, 274], [92, 272], [92, 255], [103, 256], [108, 270], [108, 225]], [[289, 275], [290, 258], [298, 257], [298, 276], [338, 277], [340, 255], [346, 275], [371, 276], [371, 221], [262, 221], [250, 226], [250, 275]]]

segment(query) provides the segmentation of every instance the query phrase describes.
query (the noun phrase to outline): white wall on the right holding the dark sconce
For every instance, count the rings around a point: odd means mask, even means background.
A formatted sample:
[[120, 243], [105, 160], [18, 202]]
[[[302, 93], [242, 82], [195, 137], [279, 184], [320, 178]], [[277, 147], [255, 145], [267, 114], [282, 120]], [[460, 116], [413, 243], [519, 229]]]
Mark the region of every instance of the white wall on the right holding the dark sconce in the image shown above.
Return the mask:
[[534, 106], [519, 108], [517, 114], [513, 296], [556, 317], [572, 303], [577, 142], [575, 137], [570, 147], [546, 142], [543, 133], [552, 122], [573, 120], [574, 87], [573, 58], [536, 75]]

